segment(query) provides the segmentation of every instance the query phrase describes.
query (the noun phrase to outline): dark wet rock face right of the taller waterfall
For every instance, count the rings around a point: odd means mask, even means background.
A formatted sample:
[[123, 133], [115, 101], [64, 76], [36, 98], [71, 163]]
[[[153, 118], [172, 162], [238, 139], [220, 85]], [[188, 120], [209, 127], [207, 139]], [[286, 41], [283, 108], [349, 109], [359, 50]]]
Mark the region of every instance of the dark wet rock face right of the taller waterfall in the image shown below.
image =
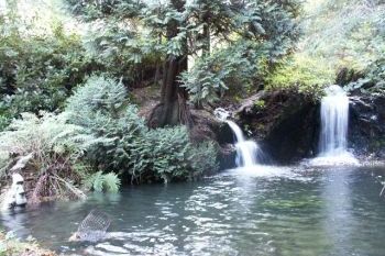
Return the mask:
[[385, 96], [350, 98], [349, 143], [356, 155], [385, 157]]

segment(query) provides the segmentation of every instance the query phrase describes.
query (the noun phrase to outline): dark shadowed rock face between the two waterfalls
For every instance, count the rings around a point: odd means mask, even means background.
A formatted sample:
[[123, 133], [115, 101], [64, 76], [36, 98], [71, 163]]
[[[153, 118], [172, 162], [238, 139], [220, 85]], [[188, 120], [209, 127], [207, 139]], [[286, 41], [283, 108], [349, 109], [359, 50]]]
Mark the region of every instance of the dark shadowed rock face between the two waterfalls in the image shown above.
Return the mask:
[[242, 104], [237, 119], [275, 163], [290, 164], [317, 154], [319, 103], [305, 94], [261, 92]]

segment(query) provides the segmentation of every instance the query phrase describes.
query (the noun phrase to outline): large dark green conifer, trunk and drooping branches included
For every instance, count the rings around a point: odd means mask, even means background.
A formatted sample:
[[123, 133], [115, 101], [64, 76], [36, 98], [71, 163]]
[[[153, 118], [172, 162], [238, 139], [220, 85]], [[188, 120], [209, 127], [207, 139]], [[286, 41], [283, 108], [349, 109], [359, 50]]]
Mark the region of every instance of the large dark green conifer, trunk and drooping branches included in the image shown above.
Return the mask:
[[[202, 92], [205, 97], [201, 100], [206, 100], [211, 92], [217, 93], [217, 89], [229, 86], [224, 85], [223, 79], [237, 75], [237, 70], [242, 69], [243, 58], [253, 66], [255, 63], [262, 63], [260, 60], [263, 58], [270, 68], [274, 67], [283, 56], [293, 51], [299, 34], [296, 18], [300, 4], [297, 0], [67, 0], [67, 2], [72, 11], [86, 21], [112, 27], [110, 41], [107, 38], [99, 41], [99, 46], [102, 46], [103, 51], [124, 48], [133, 56], [134, 63], [151, 54], [155, 54], [162, 60], [161, 100], [148, 120], [151, 126], [191, 124], [186, 102], [189, 93], [199, 89], [195, 89], [193, 84], [186, 84], [196, 79], [182, 79], [183, 74], [185, 78], [188, 77], [188, 57], [194, 57], [198, 63], [200, 59], [206, 62], [206, 65], [197, 66], [200, 76], [206, 79], [205, 86], [196, 85], [197, 88], [215, 88], [205, 89], [206, 92]], [[242, 47], [234, 47], [241, 45], [240, 42]], [[234, 55], [241, 59], [234, 65], [233, 62], [228, 62], [224, 66], [212, 63], [220, 58], [212, 58], [210, 55], [223, 51], [228, 51], [226, 54], [228, 58]], [[205, 77], [206, 71], [222, 73], [222, 76], [218, 78], [210, 75], [216, 78], [210, 80]], [[253, 71], [248, 74], [252, 76]]]

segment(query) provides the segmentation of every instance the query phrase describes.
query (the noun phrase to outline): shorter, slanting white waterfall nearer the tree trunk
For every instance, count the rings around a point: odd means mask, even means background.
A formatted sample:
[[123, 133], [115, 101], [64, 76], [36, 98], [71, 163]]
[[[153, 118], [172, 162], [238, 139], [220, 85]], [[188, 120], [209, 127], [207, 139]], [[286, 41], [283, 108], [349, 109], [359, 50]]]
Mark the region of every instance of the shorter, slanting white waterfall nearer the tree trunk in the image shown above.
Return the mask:
[[234, 122], [226, 121], [237, 138], [237, 165], [238, 167], [252, 167], [257, 165], [256, 157], [261, 153], [260, 147], [254, 141], [246, 141], [243, 133]]

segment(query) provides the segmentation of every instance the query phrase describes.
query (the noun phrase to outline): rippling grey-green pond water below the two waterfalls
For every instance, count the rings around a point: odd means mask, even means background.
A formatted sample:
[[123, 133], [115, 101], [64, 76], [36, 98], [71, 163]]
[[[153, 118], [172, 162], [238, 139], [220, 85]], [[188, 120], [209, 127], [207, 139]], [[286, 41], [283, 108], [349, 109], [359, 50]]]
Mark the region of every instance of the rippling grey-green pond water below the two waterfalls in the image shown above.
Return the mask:
[[[3, 214], [0, 227], [74, 255], [385, 255], [385, 168], [256, 167], [200, 182], [129, 187]], [[92, 209], [110, 238], [69, 243]]]

